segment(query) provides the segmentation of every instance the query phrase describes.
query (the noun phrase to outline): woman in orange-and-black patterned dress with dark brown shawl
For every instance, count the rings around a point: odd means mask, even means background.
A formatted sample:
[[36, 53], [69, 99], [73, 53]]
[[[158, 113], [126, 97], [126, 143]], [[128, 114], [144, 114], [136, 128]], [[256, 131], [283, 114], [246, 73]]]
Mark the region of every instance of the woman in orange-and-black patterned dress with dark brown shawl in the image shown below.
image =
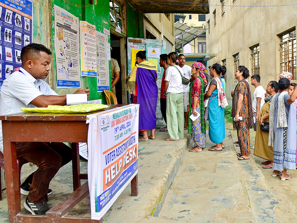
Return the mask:
[[[238, 160], [249, 159], [250, 138], [249, 129], [253, 128], [254, 120], [252, 113], [252, 96], [249, 83], [245, 80], [249, 77], [249, 70], [245, 66], [239, 66], [235, 72], [238, 84], [234, 89], [232, 100], [233, 129], [237, 130], [240, 153], [237, 153]], [[239, 120], [242, 117], [242, 120]]]

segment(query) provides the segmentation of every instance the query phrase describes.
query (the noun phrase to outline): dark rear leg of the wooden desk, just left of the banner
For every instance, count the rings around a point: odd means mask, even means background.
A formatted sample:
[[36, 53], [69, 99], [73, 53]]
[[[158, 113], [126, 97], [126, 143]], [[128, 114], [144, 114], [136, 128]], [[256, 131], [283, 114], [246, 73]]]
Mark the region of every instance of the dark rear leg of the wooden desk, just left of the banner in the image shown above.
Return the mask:
[[78, 142], [71, 143], [72, 149], [72, 173], [73, 173], [73, 191], [78, 189], [80, 185], [80, 164], [79, 164], [79, 147]]

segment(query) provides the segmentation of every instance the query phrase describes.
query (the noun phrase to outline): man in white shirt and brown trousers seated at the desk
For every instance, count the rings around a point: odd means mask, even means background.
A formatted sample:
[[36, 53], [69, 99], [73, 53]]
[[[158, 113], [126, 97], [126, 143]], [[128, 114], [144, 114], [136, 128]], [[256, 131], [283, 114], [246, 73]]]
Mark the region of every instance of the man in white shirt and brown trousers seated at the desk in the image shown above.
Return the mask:
[[[0, 114], [22, 112], [22, 107], [66, 105], [66, 95], [59, 96], [43, 80], [50, 70], [52, 53], [44, 45], [31, 43], [22, 48], [22, 66], [3, 81], [0, 93]], [[75, 94], [89, 95], [89, 89], [78, 89]], [[3, 152], [2, 123], [0, 122], [0, 150]], [[17, 142], [17, 157], [36, 164], [38, 169], [22, 184], [22, 194], [28, 194], [24, 207], [32, 214], [45, 214], [45, 201], [50, 194], [50, 180], [61, 166], [71, 160], [71, 149], [59, 142]]]

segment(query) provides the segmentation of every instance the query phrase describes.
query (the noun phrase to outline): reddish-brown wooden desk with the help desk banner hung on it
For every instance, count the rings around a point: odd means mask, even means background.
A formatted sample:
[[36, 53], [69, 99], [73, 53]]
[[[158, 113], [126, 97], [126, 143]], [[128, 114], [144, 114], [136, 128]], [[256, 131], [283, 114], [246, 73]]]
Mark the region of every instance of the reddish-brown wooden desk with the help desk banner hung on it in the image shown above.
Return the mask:
[[[101, 111], [110, 110], [122, 105], [111, 105]], [[99, 111], [97, 111], [99, 112]], [[9, 222], [47, 222], [47, 223], [89, 223], [102, 222], [86, 217], [65, 216], [71, 208], [89, 194], [88, 182], [80, 186], [81, 179], [87, 174], [80, 174], [79, 142], [87, 142], [88, 127], [85, 114], [46, 114], [18, 113], [0, 116], [3, 130], [5, 176], [7, 185], [7, 203]], [[22, 214], [20, 206], [20, 182], [15, 142], [71, 142], [73, 193], [51, 208], [46, 215]], [[131, 181], [132, 196], [138, 195], [138, 175]]]

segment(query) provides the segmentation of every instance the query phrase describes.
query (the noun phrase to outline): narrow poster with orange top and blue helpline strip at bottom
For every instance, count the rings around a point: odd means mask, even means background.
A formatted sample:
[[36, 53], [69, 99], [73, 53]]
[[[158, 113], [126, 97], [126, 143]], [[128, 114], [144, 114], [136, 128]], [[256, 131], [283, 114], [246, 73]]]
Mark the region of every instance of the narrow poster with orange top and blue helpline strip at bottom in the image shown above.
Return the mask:
[[81, 76], [97, 77], [96, 27], [80, 21]]

